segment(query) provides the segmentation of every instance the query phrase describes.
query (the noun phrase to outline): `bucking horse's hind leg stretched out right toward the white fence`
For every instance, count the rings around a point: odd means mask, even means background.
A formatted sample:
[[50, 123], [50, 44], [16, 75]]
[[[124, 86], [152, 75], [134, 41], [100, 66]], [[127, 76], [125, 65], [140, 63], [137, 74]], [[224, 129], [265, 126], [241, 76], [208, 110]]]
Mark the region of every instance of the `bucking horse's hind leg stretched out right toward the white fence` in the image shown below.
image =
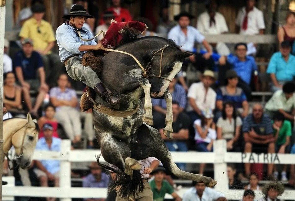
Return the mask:
[[208, 187], [216, 185], [217, 182], [210, 177], [180, 170], [175, 162], [173, 162], [171, 153], [157, 129], [143, 124], [136, 132], [136, 140], [138, 141], [138, 145], [131, 147], [132, 156], [134, 158], [141, 160], [153, 156], [159, 159], [163, 163], [165, 169], [175, 176], [198, 182], [202, 181]]

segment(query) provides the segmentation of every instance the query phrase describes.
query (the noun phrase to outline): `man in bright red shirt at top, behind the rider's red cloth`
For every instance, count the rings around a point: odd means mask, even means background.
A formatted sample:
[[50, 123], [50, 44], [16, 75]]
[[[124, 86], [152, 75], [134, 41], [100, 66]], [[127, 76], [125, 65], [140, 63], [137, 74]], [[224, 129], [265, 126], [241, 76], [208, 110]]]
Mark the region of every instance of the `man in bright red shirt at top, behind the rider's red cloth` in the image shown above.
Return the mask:
[[[112, 0], [112, 7], [109, 7], [107, 11], [112, 11], [115, 15], [115, 20], [117, 22], [128, 22], [132, 21], [132, 16], [129, 11], [121, 7], [121, 0]], [[99, 24], [103, 24], [103, 17], [100, 18]]]

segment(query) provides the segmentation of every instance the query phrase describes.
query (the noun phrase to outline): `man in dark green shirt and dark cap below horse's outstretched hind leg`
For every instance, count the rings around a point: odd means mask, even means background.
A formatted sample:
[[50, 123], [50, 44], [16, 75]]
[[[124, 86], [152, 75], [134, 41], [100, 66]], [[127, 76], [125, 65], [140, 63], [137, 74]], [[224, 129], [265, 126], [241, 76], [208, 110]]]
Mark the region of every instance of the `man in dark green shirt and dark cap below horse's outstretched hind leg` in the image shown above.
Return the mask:
[[181, 201], [181, 198], [174, 192], [173, 187], [164, 180], [166, 175], [164, 167], [159, 166], [151, 174], [155, 177], [153, 180], [149, 181], [154, 201], [163, 201], [166, 193], [172, 195], [176, 201]]

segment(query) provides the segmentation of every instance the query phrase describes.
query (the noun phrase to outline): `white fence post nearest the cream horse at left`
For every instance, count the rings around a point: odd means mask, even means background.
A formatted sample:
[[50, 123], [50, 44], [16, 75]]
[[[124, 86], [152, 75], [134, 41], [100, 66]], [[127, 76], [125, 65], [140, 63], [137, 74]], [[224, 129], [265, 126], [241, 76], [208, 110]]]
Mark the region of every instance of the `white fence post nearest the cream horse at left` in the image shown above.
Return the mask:
[[[71, 141], [69, 139], [61, 140], [61, 156], [66, 157], [65, 161], [60, 162], [60, 172], [59, 172], [59, 186], [66, 192], [67, 195], [70, 195], [71, 188], [71, 164], [70, 164], [70, 150], [71, 150]], [[61, 201], [71, 201], [70, 197], [61, 198]]]

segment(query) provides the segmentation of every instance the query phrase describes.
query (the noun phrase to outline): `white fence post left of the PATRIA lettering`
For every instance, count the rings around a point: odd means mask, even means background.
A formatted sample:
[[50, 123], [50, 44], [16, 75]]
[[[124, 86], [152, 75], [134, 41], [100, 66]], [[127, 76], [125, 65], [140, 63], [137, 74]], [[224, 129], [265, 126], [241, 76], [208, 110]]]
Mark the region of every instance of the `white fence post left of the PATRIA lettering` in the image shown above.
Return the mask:
[[214, 179], [217, 181], [214, 189], [219, 192], [226, 192], [229, 189], [229, 179], [225, 163], [226, 141], [224, 139], [214, 141], [213, 149], [215, 153]]

